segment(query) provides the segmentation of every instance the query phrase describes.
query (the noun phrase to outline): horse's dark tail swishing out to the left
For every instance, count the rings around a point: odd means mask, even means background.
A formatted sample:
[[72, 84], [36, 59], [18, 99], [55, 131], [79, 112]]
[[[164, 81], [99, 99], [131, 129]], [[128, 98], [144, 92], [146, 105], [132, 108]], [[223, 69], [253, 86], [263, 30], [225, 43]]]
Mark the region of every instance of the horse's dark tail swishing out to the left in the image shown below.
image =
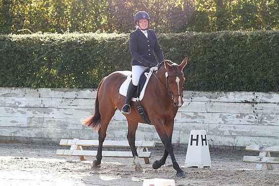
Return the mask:
[[106, 78], [103, 78], [98, 85], [97, 96], [96, 96], [96, 100], [95, 100], [95, 113], [94, 113], [94, 115], [92, 117], [88, 117], [88, 118], [82, 120], [83, 125], [86, 125], [88, 127], [93, 127], [94, 130], [96, 130], [96, 131], [98, 131], [99, 128], [101, 127], [100, 126], [101, 115], [100, 115], [100, 111], [99, 111], [98, 92], [99, 92], [100, 86], [101, 86], [102, 82], [104, 81], [104, 79], [106, 79]]

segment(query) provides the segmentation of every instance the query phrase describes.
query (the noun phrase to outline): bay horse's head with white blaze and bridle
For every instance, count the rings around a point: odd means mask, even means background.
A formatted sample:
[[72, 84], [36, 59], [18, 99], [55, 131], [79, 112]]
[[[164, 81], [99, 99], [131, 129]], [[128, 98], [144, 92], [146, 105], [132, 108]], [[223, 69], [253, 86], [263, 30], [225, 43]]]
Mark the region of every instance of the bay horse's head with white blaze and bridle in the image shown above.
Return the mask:
[[164, 61], [166, 68], [166, 88], [170, 97], [173, 99], [173, 104], [176, 107], [181, 107], [183, 100], [183, 83], [185, 81], [183, 68], [187, 64], [188, 58], [185, 58], [180, 65], [171, 63], [168, 60]]

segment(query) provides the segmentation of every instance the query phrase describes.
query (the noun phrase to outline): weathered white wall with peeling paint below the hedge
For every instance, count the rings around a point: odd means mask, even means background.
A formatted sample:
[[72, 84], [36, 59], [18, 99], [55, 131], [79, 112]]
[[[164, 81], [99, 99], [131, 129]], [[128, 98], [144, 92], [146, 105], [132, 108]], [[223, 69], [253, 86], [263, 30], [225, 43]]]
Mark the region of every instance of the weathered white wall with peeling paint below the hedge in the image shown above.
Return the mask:
[[[0, 88], [0, 142], [54, 142], [97, 139], [80, 120], [94, 111], [93, 89]], [[191, 130], [205, 130], [211, 146], [279, 144], [279, 95], [253, 92], [184, 91], [172, 143], [187, 144]], [[116, 111], [107, 138], [126, 140], [127, 122]], [[137, 140], [160, 139], [153, 126], [140, 124]]]

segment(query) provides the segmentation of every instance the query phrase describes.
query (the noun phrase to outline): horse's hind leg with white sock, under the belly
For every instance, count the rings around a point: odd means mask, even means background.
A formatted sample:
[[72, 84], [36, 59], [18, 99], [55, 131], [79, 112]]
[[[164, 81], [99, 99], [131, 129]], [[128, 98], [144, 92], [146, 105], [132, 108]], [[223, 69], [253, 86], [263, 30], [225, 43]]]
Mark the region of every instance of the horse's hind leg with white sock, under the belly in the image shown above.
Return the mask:
[[132, 122], [131, 120], [128, 120], [128, 134], [127, 134], [127, 139], [129, 142], [129, 145], [131, 147], [132, 155], [134, 158], [134, 165], [135, 165], [135, 171], [136, 172], [143, 172], [143, 167], [140, 163], [140, 158], [138, 158], [138, 154], [135, 148], [135, 131], [137, 129], [137, 122]]

